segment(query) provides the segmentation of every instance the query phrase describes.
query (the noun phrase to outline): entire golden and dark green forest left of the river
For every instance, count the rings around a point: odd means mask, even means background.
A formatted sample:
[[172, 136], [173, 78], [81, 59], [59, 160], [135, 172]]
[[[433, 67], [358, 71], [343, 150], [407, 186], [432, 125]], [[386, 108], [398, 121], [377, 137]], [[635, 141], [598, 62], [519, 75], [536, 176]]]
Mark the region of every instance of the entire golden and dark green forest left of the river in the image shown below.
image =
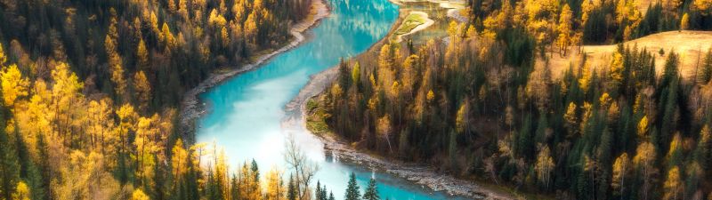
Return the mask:
[[261, 179], [255, 163], [229, 172], [220, 152], [183, 142], [175, 108], [215, 68], [286, 43], [311, 4], [0, 1], [0, 199], [285, 199], [308, 190], [284, 172]]

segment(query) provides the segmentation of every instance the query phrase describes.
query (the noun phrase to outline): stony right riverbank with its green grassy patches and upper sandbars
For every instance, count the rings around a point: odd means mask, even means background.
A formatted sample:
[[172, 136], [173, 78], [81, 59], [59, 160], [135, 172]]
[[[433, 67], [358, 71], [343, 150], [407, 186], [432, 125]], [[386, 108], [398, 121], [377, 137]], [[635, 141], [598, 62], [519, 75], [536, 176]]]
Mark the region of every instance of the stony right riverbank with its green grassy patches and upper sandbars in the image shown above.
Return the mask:
[[[392, 0], [397, 1], [397, 0]], [[381, 41], [371, 46], [371, 48], [358, 57], [360, 59], [366, 59], [370, 56], [378, 54], [380, 46], [384, 43], [389, 42], [388, 38], [392, 38], [394, 33], [400, 29], [403, 21], [406, 21], [409, 14], [412, 11], [417, 11], [416, 9], [409, 8], [407, 4], [410, 2], [434, 2], [441, 5], [452, 5], [448, 4], [447, 1], [398, 1], [395, 4], [401, 4], [401, 16], [394, 23], [393, 28], [389, 32], [388, 36], [384, 37]], [[456, 1], [457, 2], [457, 1]], [[406, 6], [404, 6], [404, 4]], [[443, 7], [447, 10], [445, 11], [459, 11], [457, 8]], [[457, 17], [462, 17], [459, 12], [446, 12], [448, 18], [441, 19], [447, 21], [438, 20], [434, 23], [444, 23], [448, 24], [449, 20], [459, 20]], [[457, 14], [451, 14], [457, 13]], [[445, 13], [443, 13], [445, 15]], [[428, 31], [433, 31], [433, 28], [444, 28], [443, 26], [433, 26], [428, 29]], [[436, 30], [438, 31], [438, 30]], [[441, 31], [441, 30], [440, 30]], [[417, 39], [423, 39], [424, 37], [417, 37]], [[358, 59], [357, 59], [358, 60]], [[287, 123], [297, 123], [302, 124], [310, 132], [317, 135], [325, 144], [325, 149], [327, 152], [344, 159], [345, 161], [352, 162], [355, 164], [363, 164], [371, 168], [376, 168], [383, 170], [384, 172], [392, 173], [396, 176], [404, 178], [406, 180], [414, 181], [417, 184], [424, 185], [435, 191], [443, 191], [450, 195], [455, 196], [465, 196], [473, 199], [524, 199], [526, 197], [517, 194], [517, 192], [512, 189], [506, 188], [504, 186], [496, 186], [488, 182], [475, 181], [470, 179], [460, 179], [456, 178], [450, 174], [437, 172], [433, 167], [427, 164], [415, 164], [401, 162], [395, 159], [387, 159], [381, 156], [376, 156], [376, 154], [370, 154], [368, 151], [363, 151], [362, 149], [354, 147], [352, 144], [341, 140], [336, 134], [328, 129], [326, 123], [324, 123], [322, 116], [323, 112], [317, 110], [315, 106], [316, 101], [312, 98], [317, 98], [318, 95], [324, 91], [328, 85], [336, 80], [338, 73], [338, 68], [328, 68], [322, 71], [320, 74], [311, 77], [311, 80], [306, 84], [294, 100], [290, 101], [286, 106], [287, 114], [291, 117], [286, 117], [286, 121], [290, 120], [300, 120], [300, 122], [287, 122]]]

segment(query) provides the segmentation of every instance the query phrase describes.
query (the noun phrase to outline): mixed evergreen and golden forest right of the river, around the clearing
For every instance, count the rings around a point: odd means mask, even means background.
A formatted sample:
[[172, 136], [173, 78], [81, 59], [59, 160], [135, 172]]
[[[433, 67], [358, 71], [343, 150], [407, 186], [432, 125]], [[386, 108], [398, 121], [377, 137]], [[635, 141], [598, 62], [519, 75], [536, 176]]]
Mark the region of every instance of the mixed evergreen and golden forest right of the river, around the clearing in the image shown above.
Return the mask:
[[[712, 46], [684, 76], [674, 49], [622, 44], [709, 30], [712, 1], [639, 1], [469, 0], [447, 39], [342, 61], [310, 127], [554, 199], [712, 199]], [[549, 60], [592, 44], [619, 45], [554, 76]]]

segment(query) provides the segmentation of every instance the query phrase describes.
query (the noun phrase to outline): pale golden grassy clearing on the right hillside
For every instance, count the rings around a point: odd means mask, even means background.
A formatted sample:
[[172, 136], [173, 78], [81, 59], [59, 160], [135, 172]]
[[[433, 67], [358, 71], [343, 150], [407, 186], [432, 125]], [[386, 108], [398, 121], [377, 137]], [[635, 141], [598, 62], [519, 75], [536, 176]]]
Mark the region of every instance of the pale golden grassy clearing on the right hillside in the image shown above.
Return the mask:
[[[712, 31], [667, 31], [626, 42], [629, 48], [637, 45], [639, 50], [646, 49], [655, 56], [655, 72], [662, 74], [669, 52], [676, 52], [680, 56], [680, 74], [686, 80], [692, 80], [699, 65], [705, 60], [705, 54], [712, 48]], [[566, 56], [552, 53], [549, 66], [554, 78], [561, 77], [569, 69], [570, 64], [578, 66], [587, 56], [587, 61], [594, 68], [608, 68], [613, 52], [617, 50], [616, 44], [611, 45], [584, 45], [580, 51], [577, 47], [570, 47]], [[664, 52], [660, 54], [660, 50]], [[581, 54], [580, 52], [585, 52]], [[544, 63], [537, 60], [538, 65]]]

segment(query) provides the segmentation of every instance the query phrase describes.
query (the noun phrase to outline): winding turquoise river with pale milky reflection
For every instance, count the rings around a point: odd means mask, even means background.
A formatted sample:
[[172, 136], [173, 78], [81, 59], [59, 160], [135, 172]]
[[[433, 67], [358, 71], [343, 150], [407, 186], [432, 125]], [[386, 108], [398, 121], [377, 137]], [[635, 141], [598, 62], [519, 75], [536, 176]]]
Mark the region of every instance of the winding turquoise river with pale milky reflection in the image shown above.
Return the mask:
[[376, 177], [382, 199], [451, 199], [391, 174], [328, 158], [320, 140], [303, 127], [281, 124], [285, 105], [309, 81], [309, 76], [335, 66], [340, 58], [366, 51], [386, 35], [398, 17], [398, 6], [387, 0], [328, 3], [330, 15], [311, 30], [311, 39], [201, 95], [210, 114], [198, 122], [198, 142], [214, 142], [223, 148], [232, 170], [254, 158], [265, 174], [270, 168], [288, 171], [282, 154], [287, 135], [292, 135], [307, 156], [320, 165], [316, 178], [337, 199], [344, 198], [351, 172], [356, 172], [361, 189], [372, 176]]

